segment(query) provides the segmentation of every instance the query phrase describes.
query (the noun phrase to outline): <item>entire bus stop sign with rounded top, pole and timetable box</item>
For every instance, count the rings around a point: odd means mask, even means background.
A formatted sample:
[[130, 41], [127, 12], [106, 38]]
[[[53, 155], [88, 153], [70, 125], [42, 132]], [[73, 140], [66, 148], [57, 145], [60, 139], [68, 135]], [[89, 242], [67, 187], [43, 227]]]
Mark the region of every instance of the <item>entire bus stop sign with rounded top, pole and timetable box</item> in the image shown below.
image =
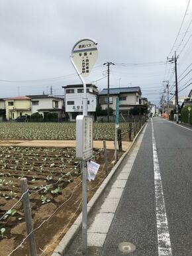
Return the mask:
[[72, 48], [70, 60], [83, 83], [83, 115], [76, 117], [76, 158], [81, 160], [82, 173], [82, 252], [87, 251], [87, 160], [93, 155], [93, 119], [87, 117], [87, 88], [84, 77], [89, 76], [97, 60], [97, 42], [83, 38]]

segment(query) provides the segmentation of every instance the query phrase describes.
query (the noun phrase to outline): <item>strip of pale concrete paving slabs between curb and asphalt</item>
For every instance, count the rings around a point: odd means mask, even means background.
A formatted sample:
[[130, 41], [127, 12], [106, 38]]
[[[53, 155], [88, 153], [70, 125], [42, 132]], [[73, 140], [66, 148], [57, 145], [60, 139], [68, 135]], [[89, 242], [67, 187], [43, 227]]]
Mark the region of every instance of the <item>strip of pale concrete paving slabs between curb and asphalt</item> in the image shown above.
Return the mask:
[[[89, 217], [87, 230], [87, 255], [89, 256], [101, 255], [103, 245], [109, 233], [109, 227], [113, 222], [115, 212], [119, 205], [122, 193], [124, 192], [134, 160], [138, 154], [145, 130], [146, 127], [136, 140], [136, 143], [133, 145], [130, 153], [128, 153], [128, 156], [126, 156], [126, 159], [124, 159], [124, 165], [120, 168], [118, 175], [113, 178], [111, 187], [107, 188], [105, 198], [101, 198], [100, 205], [93, 210], [93, 215]], [[75, 240], [72, 245], [70, 245], [70, 248], [65, 255], [82, 255], [81, 231], [78, 233], [77, 237], [75, 237]]]

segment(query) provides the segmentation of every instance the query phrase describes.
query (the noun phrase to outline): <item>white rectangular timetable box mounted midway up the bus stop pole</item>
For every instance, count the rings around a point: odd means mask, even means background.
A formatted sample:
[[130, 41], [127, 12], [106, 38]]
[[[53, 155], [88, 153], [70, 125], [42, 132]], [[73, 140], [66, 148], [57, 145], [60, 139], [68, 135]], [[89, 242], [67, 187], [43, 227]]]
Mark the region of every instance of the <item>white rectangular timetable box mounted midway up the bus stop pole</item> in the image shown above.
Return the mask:
[[76, 117], [76, 159], [88, 160], [93, 156], [93, 118]]

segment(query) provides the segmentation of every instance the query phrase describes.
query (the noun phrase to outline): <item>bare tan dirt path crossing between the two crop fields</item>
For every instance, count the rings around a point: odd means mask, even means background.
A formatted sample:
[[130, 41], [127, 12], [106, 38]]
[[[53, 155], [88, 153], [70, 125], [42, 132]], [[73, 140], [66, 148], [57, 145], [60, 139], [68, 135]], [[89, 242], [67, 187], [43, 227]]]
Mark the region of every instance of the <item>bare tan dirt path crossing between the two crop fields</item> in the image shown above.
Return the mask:
[[[122, 150], [126, 151], [130, 146], [130, 141], [122, 141]], [[61, 141], [61, 140], [52, 140], [52, 141], [24, 141], [24, 140], [1, 140], [0, 146], [19, 146], [19, 147], [75, 147], [75, 141]], [[103, 141], [93, 141], [93, 147], [97, 149], [103, 148]], [[106, 141], [107, 149], [114, 149], [113, 141]]]

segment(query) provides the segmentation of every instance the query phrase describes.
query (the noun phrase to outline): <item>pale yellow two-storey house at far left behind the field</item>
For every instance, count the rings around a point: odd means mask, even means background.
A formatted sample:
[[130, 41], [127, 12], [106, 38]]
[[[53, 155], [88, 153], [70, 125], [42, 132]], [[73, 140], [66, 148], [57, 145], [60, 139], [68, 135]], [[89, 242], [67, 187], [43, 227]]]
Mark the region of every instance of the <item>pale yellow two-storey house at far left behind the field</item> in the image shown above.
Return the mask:
[[15, 120], [21, 115], [31, 115], [30, 97], [18, 96], [5, 99], [7, 120]]

